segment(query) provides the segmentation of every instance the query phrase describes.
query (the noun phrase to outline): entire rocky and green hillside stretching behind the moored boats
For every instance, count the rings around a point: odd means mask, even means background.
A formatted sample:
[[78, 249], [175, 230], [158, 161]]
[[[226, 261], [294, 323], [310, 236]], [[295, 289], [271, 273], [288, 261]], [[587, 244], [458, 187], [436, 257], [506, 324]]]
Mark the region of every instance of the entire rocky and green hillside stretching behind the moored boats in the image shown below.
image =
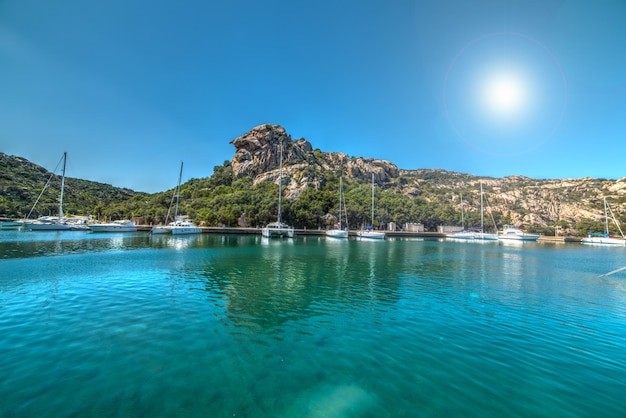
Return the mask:
[[[304, 138], [292, 140], [279, 125], [260, 125], [231, 141], [231, 161], [214, 167], [210, 177], [181, 186], [180, 212], [208, 226], [262, 226], [277, 216], [279, 161], [283, 155], [283, 219], [296, 227], [326, 228], [336, 222], [339, 176], [343, 176], [348, 224], [369, 224], [372, 175], [376, 185], [377, 226], [395, 222], [461, 224], [480, 219], [480, 184], [496, 224], [512, 223], [528, 231], [583, 235], [602, 231], [603, 197], [626, 225], [626, 177], [538, 180], [523, 176], [478, 177], [445, 170], [403, 170], [393, 163], [314, 149]], [[45, 169], [19, 157], [0, 154], [0, 216], [21, 217], [47, 181]], [[6, 169], [5, 169], [6, 167]], [[56, 212], [59, 179], [42, 198], [38, 214]], [[143, 217], [165, 221], [173, 190], [139, 194], [109, 185], [68, 179], [66, 211], [99, 218]], [[489, 214], [487, 218], [490, 219]], [[489, 222], [490, 224], [491, 222]], [[487, 224], [487, 223], [486, 223]], [[624, 229], [624, 228], [622, 228]], [[611, 231], [617, 233], [611, 223]]]

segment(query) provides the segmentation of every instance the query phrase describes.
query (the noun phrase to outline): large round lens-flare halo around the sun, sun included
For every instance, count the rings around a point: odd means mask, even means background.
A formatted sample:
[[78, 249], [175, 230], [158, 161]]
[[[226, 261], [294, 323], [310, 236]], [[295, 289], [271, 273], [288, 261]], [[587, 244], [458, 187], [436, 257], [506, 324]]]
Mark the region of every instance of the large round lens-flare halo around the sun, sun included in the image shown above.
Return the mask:
[[531, 152], [557, 130], [567, 84], [543, 44], [519, 33], [487, 34], [469, 42], [450, 63], [443, 104], [450, 128], [492, 155]]

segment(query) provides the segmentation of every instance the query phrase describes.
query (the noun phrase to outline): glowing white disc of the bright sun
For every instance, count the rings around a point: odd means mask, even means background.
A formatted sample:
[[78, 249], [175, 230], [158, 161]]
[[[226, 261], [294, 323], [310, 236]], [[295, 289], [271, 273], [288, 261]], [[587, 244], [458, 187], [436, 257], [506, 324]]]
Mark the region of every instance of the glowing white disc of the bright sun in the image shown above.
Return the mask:
[[526, 86], [514, 74], [498, 74], [487, 81], [484, 99], [490, 112], [500, 116], [519, 116], [526, 106]]

